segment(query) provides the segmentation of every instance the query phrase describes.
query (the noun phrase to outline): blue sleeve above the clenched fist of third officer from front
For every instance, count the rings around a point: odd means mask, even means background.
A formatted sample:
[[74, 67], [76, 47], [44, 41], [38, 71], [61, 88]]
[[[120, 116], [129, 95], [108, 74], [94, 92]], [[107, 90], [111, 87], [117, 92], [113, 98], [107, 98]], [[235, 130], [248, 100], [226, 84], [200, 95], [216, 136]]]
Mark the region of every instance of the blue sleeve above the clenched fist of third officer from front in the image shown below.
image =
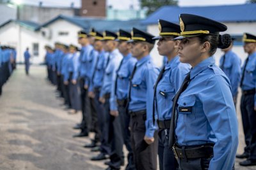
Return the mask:
[[154, 84], [156, 83], [159, 70], [152, 67], [145, 71], [145, 82], [147, 84], [147, 120], [145, 121], [146, 133], [148, 138], [154, 137], [154, 132], [157, 127], [153, 124], [153, 98], [154, 98]]

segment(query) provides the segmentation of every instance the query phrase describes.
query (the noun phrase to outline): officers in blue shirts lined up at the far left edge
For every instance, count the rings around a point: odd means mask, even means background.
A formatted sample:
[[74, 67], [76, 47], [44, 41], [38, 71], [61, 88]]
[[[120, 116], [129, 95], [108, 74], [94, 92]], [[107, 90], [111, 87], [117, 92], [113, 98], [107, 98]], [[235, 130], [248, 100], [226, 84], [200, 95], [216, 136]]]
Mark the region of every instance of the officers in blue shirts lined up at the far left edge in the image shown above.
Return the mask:
[[11, 46], [0, 46], [0, 96], [2, 87], [8, 81], [13, 70], [15, 69], [15, 60], [17, 52]]

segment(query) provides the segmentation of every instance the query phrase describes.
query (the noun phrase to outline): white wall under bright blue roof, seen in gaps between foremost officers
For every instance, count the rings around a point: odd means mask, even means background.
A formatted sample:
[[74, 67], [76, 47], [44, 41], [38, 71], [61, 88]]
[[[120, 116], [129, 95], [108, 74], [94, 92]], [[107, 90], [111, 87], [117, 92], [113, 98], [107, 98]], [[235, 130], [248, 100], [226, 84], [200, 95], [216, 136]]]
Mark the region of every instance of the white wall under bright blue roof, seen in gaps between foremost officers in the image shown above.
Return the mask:
[[[243, 23], [223, 23], [227, 25], [228, 29], [224, 33], [228, 33], [231, 35], [243, 35], [243, 32], [250, 32], [252, 34], [256, 34], [256, 22], [243, 22]], [[157, 36], [159, 34], [158, 25], [148, 25], [147, 31], [150, 34]], [[247, 54], [244, 53], [243, 46], [234, 46], [233, 51], [237, 53], [237, 55], [241, 58], [242, 62], [246, 59]], [[155, 45], [154, 49], [150, 53], [154, 59], [154, 62], [157, 66], [161, 66], [163, 63], [163, 57], [159, 55], [157, 51], [157, 45]], [[216, 64], [219, 64], [219, 60], [223, 52], [220, 49], [217, 50], [214, 57], [216, 59]]]

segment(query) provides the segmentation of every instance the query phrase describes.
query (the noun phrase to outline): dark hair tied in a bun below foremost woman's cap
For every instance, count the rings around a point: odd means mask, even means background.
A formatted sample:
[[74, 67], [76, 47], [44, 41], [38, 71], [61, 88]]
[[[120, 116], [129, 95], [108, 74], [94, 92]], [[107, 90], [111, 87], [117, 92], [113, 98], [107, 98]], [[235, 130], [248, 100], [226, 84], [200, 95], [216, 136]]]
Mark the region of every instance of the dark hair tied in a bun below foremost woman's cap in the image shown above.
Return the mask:
[[210, 55], [216, 53], [217, 48], [225, 49], [232, 43], [232, 38], [230, 34], [223, 34], [222, 36], [215, 35], [200, 35], [198, 36], [200, 43], [208, 41], [211, 44]]

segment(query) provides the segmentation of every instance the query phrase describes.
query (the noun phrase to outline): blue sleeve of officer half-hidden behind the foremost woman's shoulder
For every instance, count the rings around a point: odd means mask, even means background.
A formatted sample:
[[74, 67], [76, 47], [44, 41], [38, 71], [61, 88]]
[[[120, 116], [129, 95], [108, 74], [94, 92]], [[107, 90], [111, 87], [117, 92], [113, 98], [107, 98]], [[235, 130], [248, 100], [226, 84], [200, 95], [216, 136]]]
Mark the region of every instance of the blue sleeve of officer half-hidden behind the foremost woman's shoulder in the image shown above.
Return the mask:
[[232, 96], [236, 97], [237, 96], [237, 90], [238, 90], [238, 86], [240, 83], [240, 77], [241, 77], [241, 61], [239, 59], [239, 57], [234, 56], [232, 59], [233, 60], [233, 66], [232, 66], [232, 70], [231, 70], [231, 87], [232, 87]]

